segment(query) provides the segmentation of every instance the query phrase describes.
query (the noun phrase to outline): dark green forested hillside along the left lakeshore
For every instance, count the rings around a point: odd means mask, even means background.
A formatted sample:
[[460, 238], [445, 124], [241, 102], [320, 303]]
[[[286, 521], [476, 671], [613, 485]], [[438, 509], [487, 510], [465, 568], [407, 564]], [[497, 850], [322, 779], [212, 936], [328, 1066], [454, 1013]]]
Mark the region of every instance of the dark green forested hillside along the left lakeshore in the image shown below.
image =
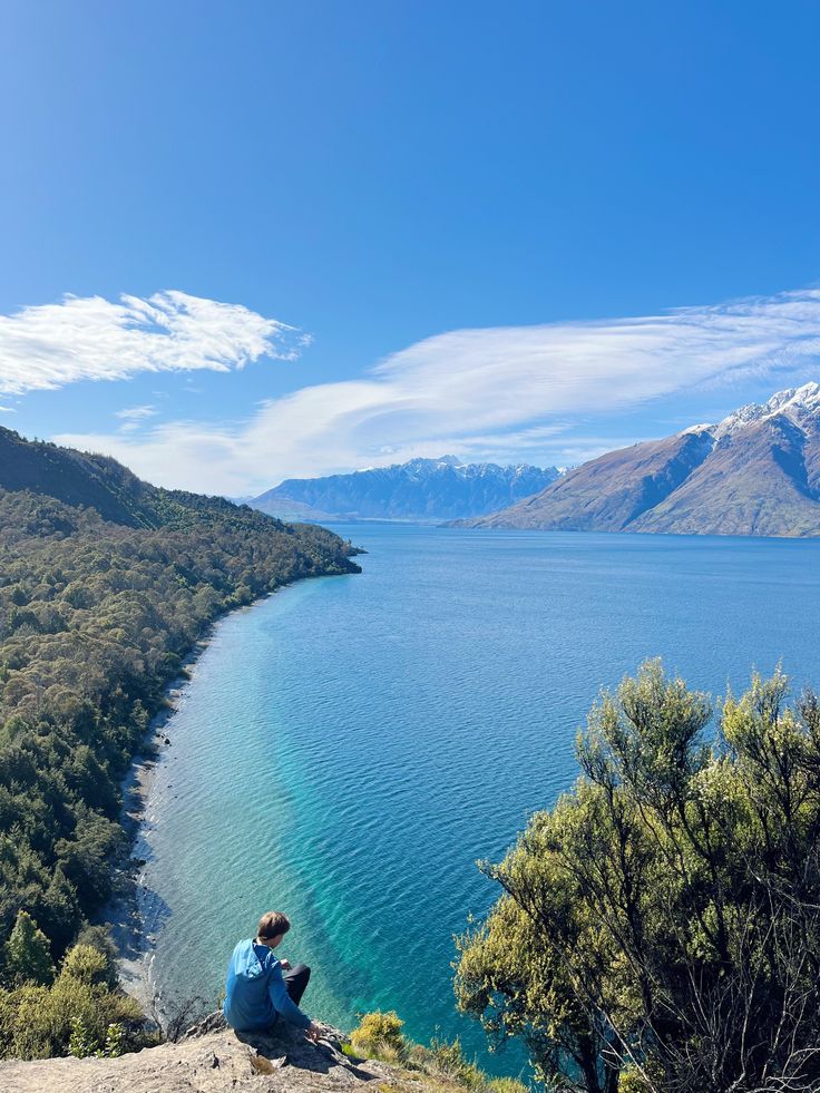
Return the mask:
[[[113, 460], [20, 438], [12, 447], [13, 476], [3, 467], [0, 479], [37, 491], [0, 490], [0, 970], [8, 987], [26, 980], [7, 944], [20, 911], [59, 960], [108, 898], [111, 853], [124, 838], [118, 783], [207, 624], [289, 580], [359, 569], [350, 545], [324, 528], [159, 490]], [[102, 479], [89, 462], [104, 468]], [[65, 471], [53, 486], [49, 463]], [[85, 504], [101, 490], [109, 515], [119, 498], [121, 521], [47, 496], [49, 488]]]

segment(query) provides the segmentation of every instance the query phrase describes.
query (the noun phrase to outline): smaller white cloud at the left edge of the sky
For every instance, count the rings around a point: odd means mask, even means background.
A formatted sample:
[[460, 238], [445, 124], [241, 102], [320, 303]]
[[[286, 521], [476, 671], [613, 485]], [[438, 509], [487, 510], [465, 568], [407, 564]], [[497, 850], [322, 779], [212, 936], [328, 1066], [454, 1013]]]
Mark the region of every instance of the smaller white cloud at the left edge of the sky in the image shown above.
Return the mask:
[[0, 315], [0, 392], [22, 394], [75, 380], [121, 380], [136, 372], [227, 372], [257, 360], [292, 360], [303, 339], [292, 326], [244, 308], [157, 292], [67, 295], [60, 303]]

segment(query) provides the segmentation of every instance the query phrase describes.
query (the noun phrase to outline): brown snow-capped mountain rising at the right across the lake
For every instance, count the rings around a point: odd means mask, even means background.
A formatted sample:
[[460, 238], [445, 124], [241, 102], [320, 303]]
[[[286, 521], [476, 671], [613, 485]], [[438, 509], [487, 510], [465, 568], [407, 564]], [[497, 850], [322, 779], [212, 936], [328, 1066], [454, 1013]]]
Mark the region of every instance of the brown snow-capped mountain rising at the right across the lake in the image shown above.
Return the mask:
[[820, 535], [820, 384], [607, 452], [467, 527]]

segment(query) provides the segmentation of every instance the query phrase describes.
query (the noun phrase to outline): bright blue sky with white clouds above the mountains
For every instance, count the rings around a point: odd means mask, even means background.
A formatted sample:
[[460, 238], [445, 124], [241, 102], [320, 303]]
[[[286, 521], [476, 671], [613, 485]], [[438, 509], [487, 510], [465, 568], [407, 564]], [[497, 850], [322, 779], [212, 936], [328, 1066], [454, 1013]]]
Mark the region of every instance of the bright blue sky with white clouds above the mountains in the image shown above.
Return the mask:
[[820, 379], [819, 36], [792, 0], [6, 0], [0, 423], [244, 494]]

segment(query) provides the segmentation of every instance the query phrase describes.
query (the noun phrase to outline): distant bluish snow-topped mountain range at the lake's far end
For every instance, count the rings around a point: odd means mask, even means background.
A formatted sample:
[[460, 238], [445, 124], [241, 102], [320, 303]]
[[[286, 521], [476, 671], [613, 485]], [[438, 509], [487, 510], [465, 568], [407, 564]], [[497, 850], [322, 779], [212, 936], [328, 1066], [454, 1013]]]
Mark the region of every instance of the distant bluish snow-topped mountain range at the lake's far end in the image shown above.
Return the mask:
[[281, 518], [440, 521], [481, 516], [537, 494], [555, 467], [411, 459], [325, 478], [290, 478], [250, 504]]

